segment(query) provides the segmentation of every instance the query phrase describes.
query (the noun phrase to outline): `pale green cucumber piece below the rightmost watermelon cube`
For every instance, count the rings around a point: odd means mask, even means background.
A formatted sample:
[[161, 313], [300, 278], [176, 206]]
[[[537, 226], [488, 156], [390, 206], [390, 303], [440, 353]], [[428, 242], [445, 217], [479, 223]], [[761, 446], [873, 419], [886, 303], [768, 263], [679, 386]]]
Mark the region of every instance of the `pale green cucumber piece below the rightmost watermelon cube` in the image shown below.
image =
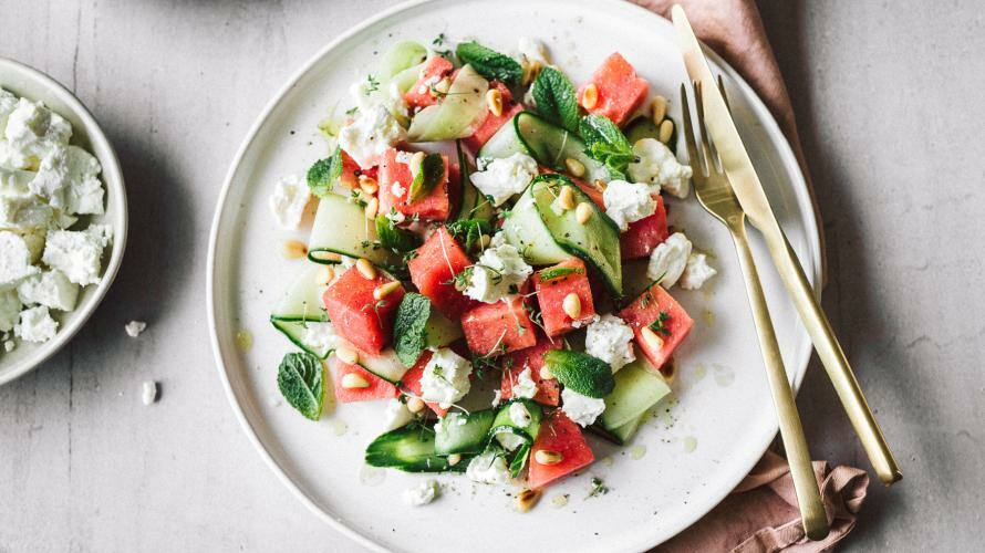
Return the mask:
[[640, 357], [615, 373], [615, 387], [605, 397], [605, 410], [600, 417], [604, 428], [611, 430], [632, 422], [671, 393], [663, 377], [649, 369], [646, 359]]

